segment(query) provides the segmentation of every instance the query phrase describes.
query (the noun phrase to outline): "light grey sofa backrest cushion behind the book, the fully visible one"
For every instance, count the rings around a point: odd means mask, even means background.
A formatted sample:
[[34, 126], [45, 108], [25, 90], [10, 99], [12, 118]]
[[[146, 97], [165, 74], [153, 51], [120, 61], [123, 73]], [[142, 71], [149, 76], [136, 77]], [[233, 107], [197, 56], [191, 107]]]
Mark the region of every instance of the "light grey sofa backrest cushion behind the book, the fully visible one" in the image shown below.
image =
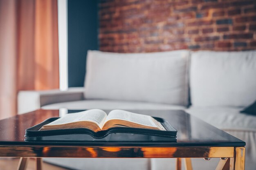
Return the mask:
[[88, 51], [85, 99], [115, 99], [187, 106], [189, 51]]

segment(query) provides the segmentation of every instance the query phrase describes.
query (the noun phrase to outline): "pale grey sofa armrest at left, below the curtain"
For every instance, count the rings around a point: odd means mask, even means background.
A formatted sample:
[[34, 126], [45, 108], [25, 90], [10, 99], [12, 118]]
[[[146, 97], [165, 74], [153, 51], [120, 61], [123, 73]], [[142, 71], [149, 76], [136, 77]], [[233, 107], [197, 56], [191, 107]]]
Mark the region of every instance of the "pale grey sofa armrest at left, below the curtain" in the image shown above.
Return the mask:
[[83, 87], [72, 87], [67, 91], [19, 91], [18, 92], [18, 114], [27, 113], [42, 106], [60, 102], [83, 100]]

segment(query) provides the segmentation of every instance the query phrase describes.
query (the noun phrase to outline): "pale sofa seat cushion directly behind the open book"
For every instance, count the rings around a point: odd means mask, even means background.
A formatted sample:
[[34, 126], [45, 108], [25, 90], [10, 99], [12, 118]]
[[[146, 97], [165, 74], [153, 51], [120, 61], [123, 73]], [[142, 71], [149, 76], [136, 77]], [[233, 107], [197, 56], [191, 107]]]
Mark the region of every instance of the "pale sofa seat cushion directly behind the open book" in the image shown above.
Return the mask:
[[130, 102], [130, 101], [117, 101], [117, 100], [79, 100], [73, 102], [62, 102], [49, 104], [42, 107], [43, 109], [59, 109], [67, 108], [70, 110], [83, 110], [99, 108], [105, 110], [184, 110], [184, 106], [159, 104], [149, 102]]

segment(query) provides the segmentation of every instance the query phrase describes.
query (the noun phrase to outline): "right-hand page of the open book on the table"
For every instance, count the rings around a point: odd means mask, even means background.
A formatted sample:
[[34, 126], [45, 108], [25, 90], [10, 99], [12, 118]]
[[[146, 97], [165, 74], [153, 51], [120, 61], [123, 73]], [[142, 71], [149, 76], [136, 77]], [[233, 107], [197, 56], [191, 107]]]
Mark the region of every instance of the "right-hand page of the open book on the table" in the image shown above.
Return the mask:
[[112, 119], [120, 119], [120, 120], [134, 122], [136, 124], [141, 124], [144, 126], [158, 128], [158, 126], [155, 124], [151, 116], [132, 113], [125, 110], [112, 110], [108, 114], [105, 120], [105, 123]]

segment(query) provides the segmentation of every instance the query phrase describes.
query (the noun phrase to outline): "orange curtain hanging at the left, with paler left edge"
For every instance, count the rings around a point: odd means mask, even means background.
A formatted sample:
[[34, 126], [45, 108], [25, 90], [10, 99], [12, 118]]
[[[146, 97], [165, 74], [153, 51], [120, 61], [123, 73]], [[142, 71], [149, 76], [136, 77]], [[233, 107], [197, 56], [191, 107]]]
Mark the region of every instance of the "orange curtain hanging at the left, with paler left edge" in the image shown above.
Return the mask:
[[0, 0], [0, 119], [20, 90], [59, 87], [57, 0]]

